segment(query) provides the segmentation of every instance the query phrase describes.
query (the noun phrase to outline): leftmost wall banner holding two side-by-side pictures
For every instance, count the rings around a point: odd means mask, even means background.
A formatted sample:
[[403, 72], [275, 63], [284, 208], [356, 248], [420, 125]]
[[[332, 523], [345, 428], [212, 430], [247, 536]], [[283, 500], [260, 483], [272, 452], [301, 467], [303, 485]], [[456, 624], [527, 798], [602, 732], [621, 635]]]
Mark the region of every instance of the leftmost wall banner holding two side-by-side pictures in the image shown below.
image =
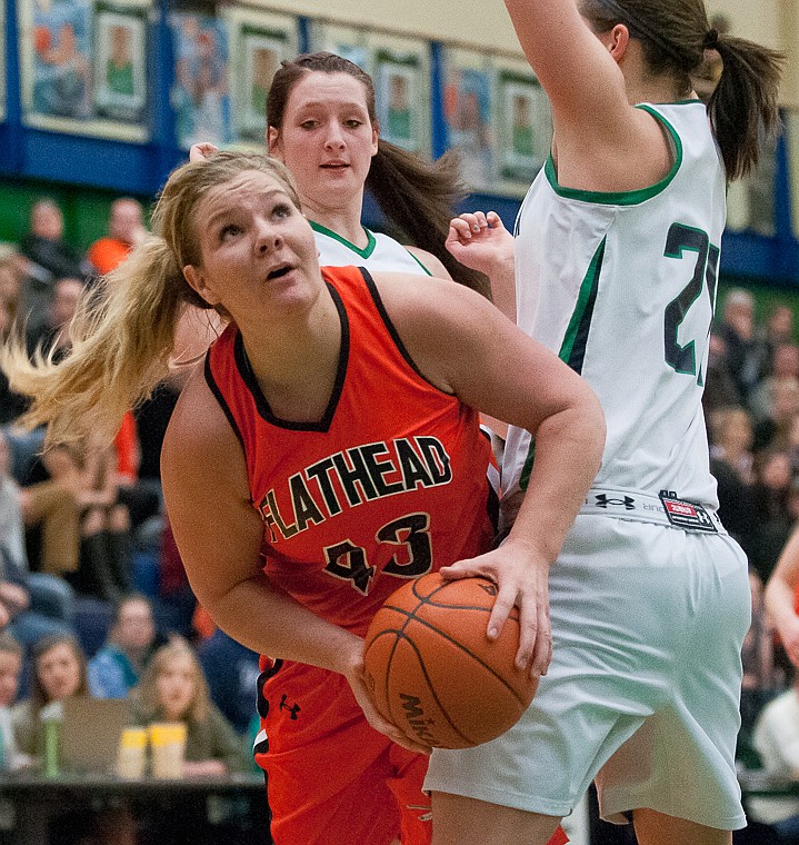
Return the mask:
[[150, 0], [20, 0], [24, 122], [147, 140], [149, 8]]

